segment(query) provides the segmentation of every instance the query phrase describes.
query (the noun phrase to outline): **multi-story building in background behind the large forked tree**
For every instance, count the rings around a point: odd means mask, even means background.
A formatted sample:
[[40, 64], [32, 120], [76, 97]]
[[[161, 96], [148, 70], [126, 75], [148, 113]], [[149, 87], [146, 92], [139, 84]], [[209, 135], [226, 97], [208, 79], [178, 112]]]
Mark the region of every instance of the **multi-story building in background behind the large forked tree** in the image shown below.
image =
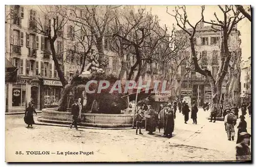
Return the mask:
[[[211, 29], [210, 26], [204, 26], [203, 22], [200, 22], [197, 27], [195, 35], [195, 50], [199, 60], [199, 65], [202, 68], [211, 70], [212, 76], [216, 78], [220, 64], [220, 45], [221, 45], [221, 32], [216, 32]], [[231, 36], [234, 40], [239, 38], [240, 32], [236, 27], [233, 28]], [[231, 37], [230, 37], [231, 38]], [[229, 48], [230, 52], [236, 53], [235, 50], [240, 47], [240, 42], [233, 42], [229, 40], [229, 44], [232, 42], [232, 46]], [[235, 46], [234, 46], [235, 45]], [[191, 101], [195, 100], [199, 106], [203, 105], [205, 101], [211, 101], [211, 87], [209, 81], [205, 76], [196, 73], [191, 62], [191, 49], [187, 47], [185, 50], [179, 53], [179, 57], [189, 57], [189, 61], [183, 61], [179, 67], [178, 75], [176, 79], [178, 82], [181, 81], [181, 89], [179, 90], [180, 97], [189, 97]], [[181, 59], [181, 58], [180, 58]], [[187, 73], [186, 66], [190, 66], [190, 73]], [[225, 94], [225, 87], [227, 83], [228, 75], [225, 76], [222, 83], [222, 98]]]

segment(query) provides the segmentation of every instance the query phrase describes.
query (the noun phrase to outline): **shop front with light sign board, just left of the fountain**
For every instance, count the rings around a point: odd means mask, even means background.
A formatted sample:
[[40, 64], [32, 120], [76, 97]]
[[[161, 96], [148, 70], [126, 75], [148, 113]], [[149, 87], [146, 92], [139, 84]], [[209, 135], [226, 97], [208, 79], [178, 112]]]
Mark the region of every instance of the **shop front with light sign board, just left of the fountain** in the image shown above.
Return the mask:
[[41, 79], [40, 109], [58, 107], [61, 88], [59, 80]]

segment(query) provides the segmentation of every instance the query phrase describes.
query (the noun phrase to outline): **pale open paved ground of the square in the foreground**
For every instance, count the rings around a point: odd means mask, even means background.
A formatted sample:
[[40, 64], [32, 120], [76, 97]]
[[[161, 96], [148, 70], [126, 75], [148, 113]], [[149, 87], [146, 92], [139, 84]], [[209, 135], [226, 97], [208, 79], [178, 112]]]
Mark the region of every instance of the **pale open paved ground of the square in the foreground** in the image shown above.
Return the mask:
[[[209, 112], [198, 112], [198, 125], [184, 124], [177, 112], [174, 136], [135, 135], [135, 130], [70, 129], [33, 125], [26, 128], [24, 115], [6, 115], [7, 161], [223, 161], [235, 159], [235, 141], [228, 141], [224, 122], [209, 123]], [[37, 116], [40, 116], [38, 114]], [[36, 116], [35, 116], [36, 120]], [[250, 133], [250, 118], [246, 117]], [[237, 128], [236, 135], [237, 135]], [[22, 151], [16, 155], [16, 151]], [[49, 151], [50, 155], [27, 155], [26, 151]], [[63, 155], [57, 155], [57, 151]], [[78, 152], [71, 155], [70, 152]], [[80, 154], [91, 152], [89, 155]], [[67, 155], [65, 155], [67, 152]], [[92, 154], [93, 152], [93, 154]], [[17, 152], [19, 153], [19, 152]], [[55, 153], [55, 154], [54, 154]], [[29, 153], [30, 154], [30, 153]]]

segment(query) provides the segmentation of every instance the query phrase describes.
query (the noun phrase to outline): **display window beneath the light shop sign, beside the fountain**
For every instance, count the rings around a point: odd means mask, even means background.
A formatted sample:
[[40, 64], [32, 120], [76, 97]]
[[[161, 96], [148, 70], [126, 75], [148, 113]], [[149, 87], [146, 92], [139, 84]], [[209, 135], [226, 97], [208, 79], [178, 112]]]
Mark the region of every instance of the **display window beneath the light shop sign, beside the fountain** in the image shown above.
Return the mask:
[[60, 88], [46, 87], [44, 91], [44, 105], [58, 105], [60, 98]]

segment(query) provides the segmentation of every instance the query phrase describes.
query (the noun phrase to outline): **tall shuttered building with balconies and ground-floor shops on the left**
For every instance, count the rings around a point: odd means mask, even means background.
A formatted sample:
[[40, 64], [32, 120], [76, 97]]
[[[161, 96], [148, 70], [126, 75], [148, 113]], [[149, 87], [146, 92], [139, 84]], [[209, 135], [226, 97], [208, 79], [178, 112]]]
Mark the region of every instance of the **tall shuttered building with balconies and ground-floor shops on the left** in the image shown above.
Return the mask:
[[[36, 109], [57, 107], [62, 84], [51, 56], [50, 42], [47, 36], [36, 33], [40, 18], [41, 26], [46, 30], [49, 13], [46, 6], [6, 6], [6, 58], [18, 68], [17, 82], [6, 83], [6, 111], [24, 111], [28, 102]], [[50, 6], [51, 10], [59, 10], [60, 6]], [[61, 10], [61, 9], [60, 9]], [[79, 14], [80, 11], [77, 11]], [[72, 15], [72, 13], [70, 13]], [[37, 21], [36, 21], [37, 19]], [[67, 81], [81, 69], [83, 52], [77, 45], [77, 37], [81, 37], [81, 27], [67, 21], [62, 30], [57, 32], [54, 43], [57, 59]], [[76, 33], [76, 35], [75, 35]], [[80, 34], [80, 35], [79, 35]], [[97, 49], [95, 46], [92, 49]], [[106, 51], [106, 55], [112, 54]], [[115, 57], [115, 55], [114, 55]], [[109, 58], [107, 73], [120, 68], [113, 66], [115, 60]]]

